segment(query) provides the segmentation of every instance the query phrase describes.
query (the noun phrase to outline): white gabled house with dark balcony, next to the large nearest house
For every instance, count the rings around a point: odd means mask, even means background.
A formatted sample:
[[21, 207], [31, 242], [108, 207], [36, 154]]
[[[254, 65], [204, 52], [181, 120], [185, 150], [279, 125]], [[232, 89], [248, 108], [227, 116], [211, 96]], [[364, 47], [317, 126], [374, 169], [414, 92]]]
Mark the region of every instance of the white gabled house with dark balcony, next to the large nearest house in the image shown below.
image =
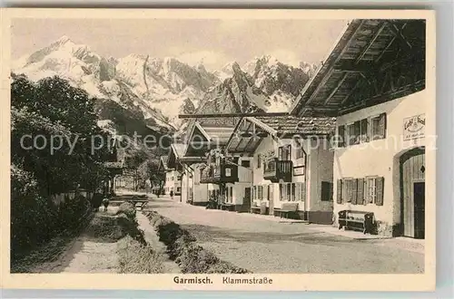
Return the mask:
[[266, 214], [277, 215], [293, 203], [294, 217], [331, 223], [334, 129], [335, 119], [327, 117], [242, 119], [225, 150], [239, 163], [247, 161], [252, 177], [241, 189], [252, 188], [252, 206], [264, 204]]

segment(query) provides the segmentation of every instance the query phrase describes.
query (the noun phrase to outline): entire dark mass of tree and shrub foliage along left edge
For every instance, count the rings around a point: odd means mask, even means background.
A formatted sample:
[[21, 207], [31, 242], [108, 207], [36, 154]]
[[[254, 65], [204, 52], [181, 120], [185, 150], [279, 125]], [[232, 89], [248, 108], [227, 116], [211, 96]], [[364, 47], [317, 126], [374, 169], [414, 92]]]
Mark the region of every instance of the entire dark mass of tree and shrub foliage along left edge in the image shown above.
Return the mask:
[[91, 209], [87, 198], [77, 195], [58, 205], [51, 198], [79, 187], [94, 190], [106, 174], [108, 149], [101, 142], [107, 135], [97, 126], [94, 101], [58, 77], [31, 82], [12, 74], [12, 260], [84, 223]]

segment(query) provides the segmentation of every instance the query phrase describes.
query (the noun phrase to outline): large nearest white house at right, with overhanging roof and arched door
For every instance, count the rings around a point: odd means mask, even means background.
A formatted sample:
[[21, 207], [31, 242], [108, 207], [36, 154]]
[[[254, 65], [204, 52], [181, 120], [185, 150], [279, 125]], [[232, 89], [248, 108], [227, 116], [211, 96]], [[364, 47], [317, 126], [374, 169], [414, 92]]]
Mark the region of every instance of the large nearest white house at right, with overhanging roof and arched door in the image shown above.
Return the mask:
[[371, 212], [384, 236], [424, 238], [425, 26], [350, 22], [291, 109], [337, 117], [334, 214]]

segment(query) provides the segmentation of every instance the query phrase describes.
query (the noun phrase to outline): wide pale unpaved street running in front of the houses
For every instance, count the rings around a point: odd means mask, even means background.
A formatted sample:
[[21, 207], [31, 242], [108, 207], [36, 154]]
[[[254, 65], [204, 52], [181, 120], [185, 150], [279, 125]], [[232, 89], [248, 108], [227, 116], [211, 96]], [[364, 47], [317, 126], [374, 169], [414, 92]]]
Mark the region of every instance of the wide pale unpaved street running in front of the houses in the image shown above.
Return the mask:
[[[278, 217], [193, 207], [153, 198], [148, 207], [171, 218], [222, 260], [254, 273], [422, 273], [424, 246], [412, 239], [336, 236], [337, 228], [281, 223]], [[361, 239], [362, 238], [362, 239]]]

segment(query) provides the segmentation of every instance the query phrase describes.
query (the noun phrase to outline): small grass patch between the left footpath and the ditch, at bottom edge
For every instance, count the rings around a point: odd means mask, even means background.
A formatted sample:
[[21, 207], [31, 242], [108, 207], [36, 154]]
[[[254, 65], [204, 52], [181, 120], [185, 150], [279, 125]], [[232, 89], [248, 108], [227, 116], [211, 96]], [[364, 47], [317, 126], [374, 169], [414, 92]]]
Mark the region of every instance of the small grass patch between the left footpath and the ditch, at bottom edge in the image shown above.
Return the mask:
[[150, 246], [143, 246], [131, 236], [118, 242], [119, 271], [122, 274], [163, 273], [163, 256], [153, 252]]

